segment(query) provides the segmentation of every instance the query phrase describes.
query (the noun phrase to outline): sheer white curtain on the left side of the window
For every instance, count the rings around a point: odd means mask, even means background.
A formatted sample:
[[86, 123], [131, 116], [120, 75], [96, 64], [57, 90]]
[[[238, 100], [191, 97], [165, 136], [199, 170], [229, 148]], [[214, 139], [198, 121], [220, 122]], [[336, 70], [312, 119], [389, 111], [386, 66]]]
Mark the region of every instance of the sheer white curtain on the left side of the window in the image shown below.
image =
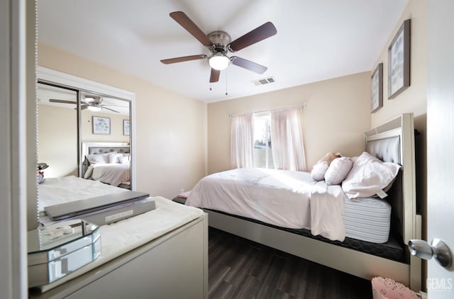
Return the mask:
[[254, 167], [253, 113], [231, 116], [231, 167]]

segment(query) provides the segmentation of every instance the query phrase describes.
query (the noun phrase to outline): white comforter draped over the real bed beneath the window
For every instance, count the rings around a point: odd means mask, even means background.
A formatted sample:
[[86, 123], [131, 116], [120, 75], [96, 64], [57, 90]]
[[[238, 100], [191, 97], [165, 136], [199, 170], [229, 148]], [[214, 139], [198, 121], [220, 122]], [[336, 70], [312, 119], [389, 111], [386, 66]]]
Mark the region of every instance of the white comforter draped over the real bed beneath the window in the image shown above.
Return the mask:
[[186, 204], [343, 241], [344, 197], [341, 186], [315, 182], [307, 172], [243, 168], [204, 177]]

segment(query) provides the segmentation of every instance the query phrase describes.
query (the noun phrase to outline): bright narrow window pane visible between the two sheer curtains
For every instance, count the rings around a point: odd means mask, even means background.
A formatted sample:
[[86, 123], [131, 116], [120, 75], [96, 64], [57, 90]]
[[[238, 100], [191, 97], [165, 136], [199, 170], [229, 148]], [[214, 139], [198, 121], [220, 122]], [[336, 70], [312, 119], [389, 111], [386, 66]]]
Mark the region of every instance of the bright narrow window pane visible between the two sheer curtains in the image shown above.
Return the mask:
[[271, 147], [271, 113], [254, 113], [254, 167], [274, 168]]

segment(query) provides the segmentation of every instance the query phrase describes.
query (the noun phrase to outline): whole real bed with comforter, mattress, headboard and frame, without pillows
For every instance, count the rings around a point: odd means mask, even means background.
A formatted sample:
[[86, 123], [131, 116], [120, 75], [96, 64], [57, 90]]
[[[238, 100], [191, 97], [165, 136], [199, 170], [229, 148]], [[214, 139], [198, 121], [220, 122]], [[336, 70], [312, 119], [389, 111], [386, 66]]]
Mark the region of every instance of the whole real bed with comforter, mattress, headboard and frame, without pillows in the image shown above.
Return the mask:
[[[421, 261], [406, 250], [409, 239], [421, 237], [421, 216], [416, 215], [413, 115], [399, 115], [365, 132], [365, 154], [384, 164], [398, 165], [384, 199], [348, 201], [340, 186], [310, 180], [301, 184], [295, 176], [308, 176], [306, 173], [291, 176], [277, 171], [276, 175], [275, 171], [262, 170], [257, 174], [253, 169], [243, 169], [215, 174], [224, 176], [230, 186], [200, 187], [206, 180], [202, 179], [186, 203], [204, 208], [209, 213], [209, 225], [220, 230], [355, 276], [369, 280], [375, 276], [393, 278], [420, 290]], [[286, 183], [278, 193], [266, 188], [268, 184], [279, 185], [279, 181], [282, 184], [279, 176], [287, 174], [294, 184]], [[249, 180], [253, 188], [243, 189], [243, 183], [237, 181], [239, 176]], [[292, 192], [284, 194], [288, 189]], [[301, 189], [309, 189], [311, 196], [302, 200], [301, 194], [295, 196], [294, 191]], [[202, 195], [204, 190], [209, 193]], [[243, 196], [255, 200], [245, 203]], [[266, 196], [271, 199], [264, 203]], [[283, 197], [296, 205], [282, 206], [276, 199]], [[309, 214], [305, 220], [301, 220], [299, 211]]]

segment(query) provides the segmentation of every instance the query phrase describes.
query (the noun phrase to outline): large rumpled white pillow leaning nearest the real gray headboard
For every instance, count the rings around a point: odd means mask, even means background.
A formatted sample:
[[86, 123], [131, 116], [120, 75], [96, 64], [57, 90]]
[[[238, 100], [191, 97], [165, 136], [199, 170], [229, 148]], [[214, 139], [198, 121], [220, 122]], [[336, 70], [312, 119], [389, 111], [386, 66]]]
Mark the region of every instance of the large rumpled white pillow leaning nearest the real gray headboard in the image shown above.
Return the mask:
[[375, 196], [394, 180], [400, 168], [399, 164], [382, 162], [363, 152], [342, 182], [343, 191], [350, 199]]

